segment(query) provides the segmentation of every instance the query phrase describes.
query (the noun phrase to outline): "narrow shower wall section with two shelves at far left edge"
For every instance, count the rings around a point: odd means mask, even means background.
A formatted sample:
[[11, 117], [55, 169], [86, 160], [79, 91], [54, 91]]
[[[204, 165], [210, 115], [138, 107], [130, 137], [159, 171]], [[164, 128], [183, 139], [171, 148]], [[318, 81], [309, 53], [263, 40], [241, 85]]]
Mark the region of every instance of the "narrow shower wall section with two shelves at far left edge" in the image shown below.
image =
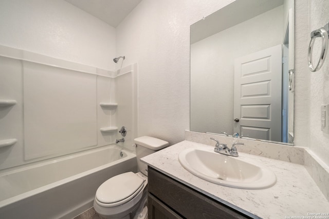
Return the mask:
[[21, 164], [23, 157], [23, 69], [21, 61], [0, 56], [0, 100], [13, 106], [0, 107], [0, 141], [15, 138], [12, 146], [0, 148], [0, 169]]

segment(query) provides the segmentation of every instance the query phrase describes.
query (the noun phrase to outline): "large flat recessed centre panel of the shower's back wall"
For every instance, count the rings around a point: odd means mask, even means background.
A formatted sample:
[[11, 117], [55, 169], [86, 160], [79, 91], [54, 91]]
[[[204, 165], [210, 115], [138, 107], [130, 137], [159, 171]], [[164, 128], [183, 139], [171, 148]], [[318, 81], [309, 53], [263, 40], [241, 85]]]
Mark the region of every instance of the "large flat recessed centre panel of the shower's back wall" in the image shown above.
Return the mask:
[[96, 75], [23, 62], [25, 160], [97, 145]]

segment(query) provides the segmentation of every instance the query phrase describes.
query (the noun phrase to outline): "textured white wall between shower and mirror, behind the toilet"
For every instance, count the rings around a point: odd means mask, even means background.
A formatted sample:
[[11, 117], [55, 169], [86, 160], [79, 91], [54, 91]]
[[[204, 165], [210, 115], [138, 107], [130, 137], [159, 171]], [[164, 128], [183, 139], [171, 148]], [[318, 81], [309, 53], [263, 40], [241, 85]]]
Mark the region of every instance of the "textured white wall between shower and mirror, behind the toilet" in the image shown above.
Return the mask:
[[138, 63], [138, 135], [174, 144], [190, 121], [190, 25], [233, 1], [142, 1], [117, 27], [117, 55]]

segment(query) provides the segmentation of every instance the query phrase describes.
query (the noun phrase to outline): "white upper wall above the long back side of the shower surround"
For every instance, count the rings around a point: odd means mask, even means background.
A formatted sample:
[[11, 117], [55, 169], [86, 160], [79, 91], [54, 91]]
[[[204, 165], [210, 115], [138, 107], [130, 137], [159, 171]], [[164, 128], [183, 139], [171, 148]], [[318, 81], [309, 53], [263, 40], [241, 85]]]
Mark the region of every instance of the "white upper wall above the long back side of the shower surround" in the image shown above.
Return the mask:
[[115, 28], [63, 0], [1, 0], [0, 32], [0, 45], [115, 69]]

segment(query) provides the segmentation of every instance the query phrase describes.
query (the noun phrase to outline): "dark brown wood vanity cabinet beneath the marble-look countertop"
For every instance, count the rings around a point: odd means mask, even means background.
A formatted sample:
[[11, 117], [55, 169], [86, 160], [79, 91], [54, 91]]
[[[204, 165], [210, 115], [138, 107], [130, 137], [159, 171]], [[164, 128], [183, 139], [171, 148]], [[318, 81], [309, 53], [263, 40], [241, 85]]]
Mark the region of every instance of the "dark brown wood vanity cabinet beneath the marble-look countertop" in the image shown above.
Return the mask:
[[149, 167], [149, 219], [250, 218]]

